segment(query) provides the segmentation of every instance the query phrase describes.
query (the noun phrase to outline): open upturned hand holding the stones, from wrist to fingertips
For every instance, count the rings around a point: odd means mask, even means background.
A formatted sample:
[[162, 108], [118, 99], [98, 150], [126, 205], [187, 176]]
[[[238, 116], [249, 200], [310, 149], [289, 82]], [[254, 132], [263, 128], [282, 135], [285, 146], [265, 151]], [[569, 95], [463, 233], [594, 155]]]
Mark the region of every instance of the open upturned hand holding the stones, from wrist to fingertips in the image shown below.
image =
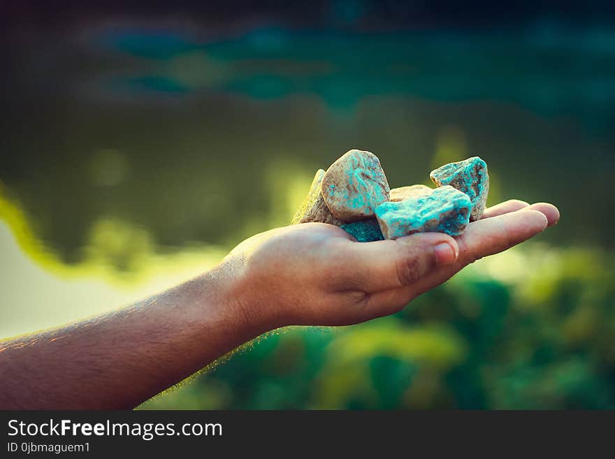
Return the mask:
[[245, 240], [223, 265], [246, 320], [259, 328], [349, 325], [398, 312], [466, 265], [558, 219], [554, 205], [512, 200], [487, 209], [456, 238], [420, 233], [356, 242], [336, 226], [300, 224]]

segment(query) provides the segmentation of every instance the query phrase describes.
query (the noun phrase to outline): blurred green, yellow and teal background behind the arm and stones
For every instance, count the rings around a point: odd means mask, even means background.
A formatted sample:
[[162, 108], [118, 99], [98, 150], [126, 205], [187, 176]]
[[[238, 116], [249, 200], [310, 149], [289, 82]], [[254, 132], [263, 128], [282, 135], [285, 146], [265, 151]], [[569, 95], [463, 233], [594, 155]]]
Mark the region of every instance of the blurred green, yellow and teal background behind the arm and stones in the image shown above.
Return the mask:
[[211, 268], [351, 147], [391, 187], [479, 155], [490, 205], [551, 201], [560, 224], [394, 316], [277, 330], [142, 408], [615, 408], [613, 6], [205, 3], [3, 19], [0, 337]]

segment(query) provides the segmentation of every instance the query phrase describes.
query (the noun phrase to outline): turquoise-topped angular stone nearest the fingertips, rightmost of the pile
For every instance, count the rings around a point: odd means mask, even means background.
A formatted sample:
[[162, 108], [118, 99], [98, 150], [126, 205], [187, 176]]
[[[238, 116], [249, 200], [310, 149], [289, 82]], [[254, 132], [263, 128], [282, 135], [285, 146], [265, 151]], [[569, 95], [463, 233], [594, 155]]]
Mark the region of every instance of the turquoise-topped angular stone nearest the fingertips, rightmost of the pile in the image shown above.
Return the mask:
[[457, 163], [444, 164], [432, 170], [429, 177], [438, 187], [450, 185], [470, 196], [472, 212], [470, 221], [482, 217], [489, 193], [489, 173], [487, 165], [479, 156]]

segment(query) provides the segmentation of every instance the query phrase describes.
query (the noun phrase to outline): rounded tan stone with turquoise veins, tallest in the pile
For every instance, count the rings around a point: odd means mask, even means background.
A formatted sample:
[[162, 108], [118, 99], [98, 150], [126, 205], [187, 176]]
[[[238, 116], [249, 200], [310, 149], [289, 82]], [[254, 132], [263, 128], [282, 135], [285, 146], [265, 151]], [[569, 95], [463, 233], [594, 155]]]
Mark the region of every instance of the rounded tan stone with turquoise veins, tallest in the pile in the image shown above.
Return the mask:
[[374, 154], [349, 150], [324, 174], [322, 196], [334, 217], [362, 220], [373, 217], [375, 208], [389, 201], [389, 183]]

